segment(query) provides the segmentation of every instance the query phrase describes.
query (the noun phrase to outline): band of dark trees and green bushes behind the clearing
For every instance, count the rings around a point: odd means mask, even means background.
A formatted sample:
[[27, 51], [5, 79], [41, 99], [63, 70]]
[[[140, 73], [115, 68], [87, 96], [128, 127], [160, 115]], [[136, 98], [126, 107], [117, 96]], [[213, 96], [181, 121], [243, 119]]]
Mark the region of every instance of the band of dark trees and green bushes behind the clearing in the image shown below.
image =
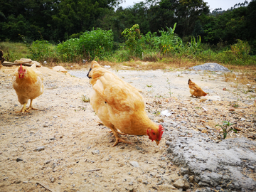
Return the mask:
[[[26, 43], [34, 60], [121, 62], [182, 58], [255, 65], [256, 1], [210, 12], [203, 0], [0, 0], [0, 43]], [[25, 53], [24, 53], [25, 54]]]

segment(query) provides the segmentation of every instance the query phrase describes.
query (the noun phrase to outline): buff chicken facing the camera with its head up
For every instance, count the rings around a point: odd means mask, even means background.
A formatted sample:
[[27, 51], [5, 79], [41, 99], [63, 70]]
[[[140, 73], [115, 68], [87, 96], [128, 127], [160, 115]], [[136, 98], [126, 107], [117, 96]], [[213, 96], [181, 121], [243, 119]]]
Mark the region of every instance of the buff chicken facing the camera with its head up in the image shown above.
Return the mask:
[[[29, 112], [29, 110], [37, 110], [32, 107], [32, 101], [43, 94], [43, 74], [36, 70], [36, 64], [33, 64], [29, 68], [22, 65], [18, 67], [18, 70], [14, 73], [12, 82], [14, 90], [18, 95], [18, 102], [23, 105], [21, 111], [18, 112], [23, 114], [24, 112]], [[26, 108], [28, 100], [31, 100], [31, 103]]]

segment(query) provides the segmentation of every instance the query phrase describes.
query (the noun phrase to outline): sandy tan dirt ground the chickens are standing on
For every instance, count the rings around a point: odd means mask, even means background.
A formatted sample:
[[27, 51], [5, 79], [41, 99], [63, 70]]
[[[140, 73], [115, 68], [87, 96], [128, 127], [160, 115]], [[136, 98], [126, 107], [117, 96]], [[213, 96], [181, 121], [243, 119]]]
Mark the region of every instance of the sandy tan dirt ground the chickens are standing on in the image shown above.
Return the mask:
[[[110, 129], [100, 123], [90, 103], [82, 101], [82, 95], [89, 95], [92, 89], [89, 80], [46, 67], [38, 68], [43, 73], [45, 85], [43, 95], [33, 100], [38, 110], [30, 114], [16, 113], [21, 110], [11, 83], [16, 68], [0, 70], [0, 191], [178, 191], [172, 184], [183, 176], [178, 174], [180, 167], [173, 165], [171, 159], [163, 158], [168, 156], [166, 134], [159, 146], [146, 136], [122, 136], [133, 144], [113, 147]], [[136, 72], [124, 73], [132, 77]], [[187, 77], [183, 78], [187, 81]], [[213, 84], [218, 82], [226, 87], [229, 85], [222, 78]], [[135, 79], [130, 83], [137, 87]], [[159, 116], [159, 112], [166, 109], [175, 111], [173, 120], [189, 119], [193, 123], [191, 129], [214, 127], [223, 119], [233, 119], [230, 101], [203, 103], [189, 97], [188, 87], [186, 95], [179, 93], [170, 98], [167, 88], [159, 97], [159, 92], [150, 90], [158, 87], [154, 86], [150, 75], [148, 81], [141, 81], [140, 85], [137, 88], [142, 90], [149, 116], [156, 122], [167, 118]], [[253, 127], [255, 119], [252, 100], [242, 102], [237, 97], [235, 100], [239, 107], [235, 107], [235, 114], [231, 115], [245, 118], [245, 122], [237, 122], [240, 132], [230, 137], [255, 135], [255, 129], [247, 129]], [[187, 117], [183, 107], [191, 114], [196, 110], [200, 117]], [[213, 136], [213, 139], [218, 137]], [[133, 161], [139, 167], [132, 165]]]

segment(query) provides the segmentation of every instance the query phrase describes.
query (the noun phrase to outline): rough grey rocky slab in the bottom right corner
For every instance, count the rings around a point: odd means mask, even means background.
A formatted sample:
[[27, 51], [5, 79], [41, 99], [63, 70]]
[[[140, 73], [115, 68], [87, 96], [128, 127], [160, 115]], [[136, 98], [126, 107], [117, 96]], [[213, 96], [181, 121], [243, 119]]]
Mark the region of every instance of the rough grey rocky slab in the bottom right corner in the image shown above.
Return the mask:
[[[167, 152], [174, 164], [186, 167], [199, 186], [220, 186], [235, 191], [256, 191], [256, 142], [246, 138], [215, 143], [197, 133], [169, 137]], [[182, 173], [181, 173], [182, 174]], [[174, 185], [175, 186], [175, 185]]]

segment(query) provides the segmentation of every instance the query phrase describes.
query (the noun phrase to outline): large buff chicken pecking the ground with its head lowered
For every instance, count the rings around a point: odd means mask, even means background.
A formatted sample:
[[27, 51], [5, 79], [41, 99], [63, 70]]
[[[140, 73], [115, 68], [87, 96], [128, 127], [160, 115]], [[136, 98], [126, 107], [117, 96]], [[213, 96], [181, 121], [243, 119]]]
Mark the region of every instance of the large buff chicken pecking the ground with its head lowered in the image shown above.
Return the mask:
[[146, 115], [145, 102], [139, 91], [92, 61], [87, 74], [92, 84], [90, 104], [105, 126], [109, 127], [116, 142], [131, 144], [119, 137], [120, 132], [131, 135], [148, 135], [159, 144], [164, 128], [152, 122]]

